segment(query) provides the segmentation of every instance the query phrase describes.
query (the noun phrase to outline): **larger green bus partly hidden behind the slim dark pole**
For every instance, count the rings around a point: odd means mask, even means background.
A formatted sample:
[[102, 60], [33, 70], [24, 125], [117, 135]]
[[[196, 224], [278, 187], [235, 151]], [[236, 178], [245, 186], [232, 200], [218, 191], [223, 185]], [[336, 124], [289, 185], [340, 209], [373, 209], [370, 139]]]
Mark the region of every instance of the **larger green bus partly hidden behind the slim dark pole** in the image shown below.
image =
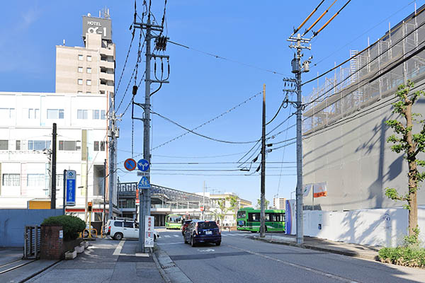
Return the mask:
[[[240, 231], [260, 231], [260, 209], [245, 207], [237, 212], [237, 229]], [[266, 209], [266, 232], [285, 232], [285, 210]]]

